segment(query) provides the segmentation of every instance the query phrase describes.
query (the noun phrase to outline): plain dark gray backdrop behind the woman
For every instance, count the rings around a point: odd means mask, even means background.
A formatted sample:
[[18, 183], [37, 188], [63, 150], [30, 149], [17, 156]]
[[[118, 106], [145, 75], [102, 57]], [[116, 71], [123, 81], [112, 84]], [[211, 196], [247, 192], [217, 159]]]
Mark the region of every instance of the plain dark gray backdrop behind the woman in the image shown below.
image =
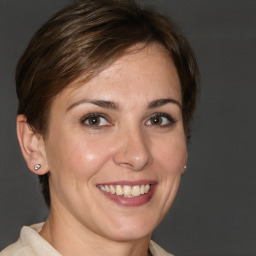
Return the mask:
[[[15, 134], [14, 72], [35, 30], [68, 0], [0, 2], [0, 249], [47, 209]], [[153, 238], [176, 256], [256, 255], [256, 1], [159, 0], [201, 70], [189, 164]]]

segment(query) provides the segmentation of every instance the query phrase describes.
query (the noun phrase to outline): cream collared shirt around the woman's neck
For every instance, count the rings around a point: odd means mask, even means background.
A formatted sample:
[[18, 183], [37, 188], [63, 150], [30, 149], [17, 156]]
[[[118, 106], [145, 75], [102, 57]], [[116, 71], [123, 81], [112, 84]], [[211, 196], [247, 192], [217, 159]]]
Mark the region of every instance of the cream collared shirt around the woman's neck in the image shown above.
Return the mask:
[[[39, 235], [43, 225], [44, 223], [24, 226], [18, 241], [4, 249], [0, 256], [62, 256]], [[152, 256], [173, 256], [153, 241], [150, 241], [149, 250]]]

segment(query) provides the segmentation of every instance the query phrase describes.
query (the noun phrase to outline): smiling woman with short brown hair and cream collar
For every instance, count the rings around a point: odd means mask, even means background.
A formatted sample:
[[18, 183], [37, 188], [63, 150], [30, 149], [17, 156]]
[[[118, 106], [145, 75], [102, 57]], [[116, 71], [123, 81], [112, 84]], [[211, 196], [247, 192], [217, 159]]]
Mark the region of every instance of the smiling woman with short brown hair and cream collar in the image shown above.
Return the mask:
[[83, 0], [32, 38], [17, 135], [50, 208], [1, 255], [170, 255], [150, 241], [187, 163], [198, 69], [166, 17]]

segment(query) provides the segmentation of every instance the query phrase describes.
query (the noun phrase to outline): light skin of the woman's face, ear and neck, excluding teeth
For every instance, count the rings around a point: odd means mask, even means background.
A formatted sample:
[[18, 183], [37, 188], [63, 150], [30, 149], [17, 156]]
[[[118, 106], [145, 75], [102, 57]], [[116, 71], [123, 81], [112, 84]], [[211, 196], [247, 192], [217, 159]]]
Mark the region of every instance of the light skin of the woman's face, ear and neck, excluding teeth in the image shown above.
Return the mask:
[[[49, 172], [51, 211], [40, 234], [62, 255], [148, 255], [151, 233], [185, 171], [173, 61], [158, 44], [131, 50], [89, 82], [56, 96], [45, 138], [25, 116], [17, 118], [29, 169]], [[35, 171], [37, 163], [42, 167]], [[152, 196], [138, 197], [135, 205], [124, 199], [127, 206], [99, 189], [118, 183], [154, 184]]]

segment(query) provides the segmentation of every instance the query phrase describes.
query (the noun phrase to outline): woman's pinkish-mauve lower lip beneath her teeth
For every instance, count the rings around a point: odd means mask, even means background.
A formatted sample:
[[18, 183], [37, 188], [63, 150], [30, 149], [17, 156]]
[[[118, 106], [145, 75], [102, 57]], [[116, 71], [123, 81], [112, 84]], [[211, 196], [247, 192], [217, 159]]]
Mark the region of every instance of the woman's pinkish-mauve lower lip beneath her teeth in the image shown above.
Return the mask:
[[124, 197], [118, 196], [116, 194], [111, 194], [109, 192], [105, 192], [101, 190], [101, 192], [110, 200], [114, 201], [118, 205], [125, 206], [125, 207], [137, 207], [142, 206], [150, 201], [152, 198], [154, 191], [156, 189], [156, 185], [151, 185], [151, 189], [148, 193], [136, 196], [136, 197]]

